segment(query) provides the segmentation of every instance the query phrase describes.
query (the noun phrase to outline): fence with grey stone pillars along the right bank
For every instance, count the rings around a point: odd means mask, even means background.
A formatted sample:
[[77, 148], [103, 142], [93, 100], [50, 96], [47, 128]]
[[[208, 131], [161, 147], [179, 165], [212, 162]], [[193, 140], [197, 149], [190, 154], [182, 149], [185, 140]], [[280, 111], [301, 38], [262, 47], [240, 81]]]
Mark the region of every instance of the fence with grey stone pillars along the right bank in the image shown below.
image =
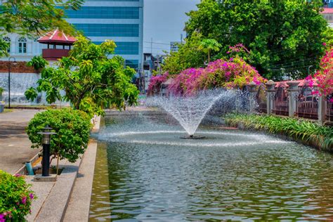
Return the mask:
[[317, 89], [308, 86], [305, 80], [279, 83], [268, 81], [266, 86], [257, 86], [252, 82], [246, 89], [250, 94], [250, 112], [301, 117], [318, 120], [319, 124], [333, 124], [333, 94], [319, 96], [315, 94]]

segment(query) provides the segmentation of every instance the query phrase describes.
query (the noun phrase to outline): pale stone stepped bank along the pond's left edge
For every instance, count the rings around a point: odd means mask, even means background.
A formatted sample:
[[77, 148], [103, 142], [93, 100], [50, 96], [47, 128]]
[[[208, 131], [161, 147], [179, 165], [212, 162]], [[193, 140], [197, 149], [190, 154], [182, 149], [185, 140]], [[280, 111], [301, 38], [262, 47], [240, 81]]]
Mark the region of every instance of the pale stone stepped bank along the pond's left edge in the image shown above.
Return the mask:
[[[100, 117], [94, 122], [92, 132], [97, 132], [99, 125]], [[32, 184], [38, 197], [32, 202], [32, 213], [27, 216], [27, 221], [88, 220], [96, 148], [96, 141], [91, 139], [77, 162], [60, 160], [63, 171], [55, 182], [34, 182], [34, 176], [26, 176], [27, 183]]]

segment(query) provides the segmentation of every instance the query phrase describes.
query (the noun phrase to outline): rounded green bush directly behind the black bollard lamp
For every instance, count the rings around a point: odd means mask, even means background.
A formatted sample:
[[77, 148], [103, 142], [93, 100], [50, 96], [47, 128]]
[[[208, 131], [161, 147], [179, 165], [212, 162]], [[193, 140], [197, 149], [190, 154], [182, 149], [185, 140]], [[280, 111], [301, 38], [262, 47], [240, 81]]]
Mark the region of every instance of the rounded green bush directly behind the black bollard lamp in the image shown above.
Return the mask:
[[85, 112], [70, 108], [39, 112], [27, 126], [32, 148], [42, 145], [42, 136], [37, 133], [48, 124], [57, 133], [51, 136], [51, 155], [75, 162], [88, 146], [90, 119]]

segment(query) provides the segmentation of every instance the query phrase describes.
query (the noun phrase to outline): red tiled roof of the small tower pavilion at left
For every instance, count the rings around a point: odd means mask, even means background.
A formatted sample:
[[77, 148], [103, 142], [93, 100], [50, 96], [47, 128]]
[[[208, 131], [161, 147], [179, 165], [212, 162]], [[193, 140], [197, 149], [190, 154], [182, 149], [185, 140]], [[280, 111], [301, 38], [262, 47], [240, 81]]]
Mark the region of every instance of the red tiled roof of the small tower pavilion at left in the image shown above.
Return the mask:
[[40, 37], [37, 39], [40, 43], [44, 44], [65, 44], [65, 45], [72, 45], [77, 39], [71, 37], [60, 30], [56, 29], [52, 32], [48, 32], [44, 37]]

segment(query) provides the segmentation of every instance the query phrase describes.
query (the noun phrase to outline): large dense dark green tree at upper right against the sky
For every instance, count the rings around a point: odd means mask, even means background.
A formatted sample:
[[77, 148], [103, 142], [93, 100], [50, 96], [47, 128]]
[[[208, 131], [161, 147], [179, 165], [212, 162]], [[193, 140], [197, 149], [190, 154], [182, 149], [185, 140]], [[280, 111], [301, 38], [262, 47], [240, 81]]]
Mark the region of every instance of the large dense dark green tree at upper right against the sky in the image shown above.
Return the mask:
[[323, 42], [333, 39], [320, 6], [321, 0], [202, 0], [187, 14], [185, 30], [188, 41], [197, 32], [202, 39], [216, 39], [222, 47], [214, 58], [242, 43], [251, 51], [247, 62], [268, 79], [306, 77], [308, 66], [318, 65], [324, 53]]

